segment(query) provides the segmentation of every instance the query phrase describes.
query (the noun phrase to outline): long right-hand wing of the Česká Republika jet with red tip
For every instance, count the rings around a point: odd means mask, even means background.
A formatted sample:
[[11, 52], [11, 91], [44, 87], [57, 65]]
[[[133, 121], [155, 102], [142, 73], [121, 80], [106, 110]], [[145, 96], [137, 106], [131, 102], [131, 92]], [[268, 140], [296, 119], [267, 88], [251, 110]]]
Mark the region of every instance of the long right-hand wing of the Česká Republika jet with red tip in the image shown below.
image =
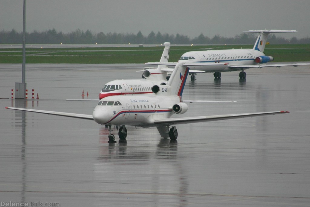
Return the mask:
[[239, 119], [239, 118], [253, 117], [253, 116], [286, 114], [286, 113], [290, 113], [290, 112], [288, 112], [288, 111], [272, 111], [272, 112], [249, 113], [249, 114], [230, 114], [230, 115], [169, 118], [169, 119], [154, 120], [154, 124], [156, 126], [166, 126], [166, 125], [172, 125], [172, 124], [189, 124], [189, 123], [218, 121], [218, 120], [226, 120], [226, 119]]

